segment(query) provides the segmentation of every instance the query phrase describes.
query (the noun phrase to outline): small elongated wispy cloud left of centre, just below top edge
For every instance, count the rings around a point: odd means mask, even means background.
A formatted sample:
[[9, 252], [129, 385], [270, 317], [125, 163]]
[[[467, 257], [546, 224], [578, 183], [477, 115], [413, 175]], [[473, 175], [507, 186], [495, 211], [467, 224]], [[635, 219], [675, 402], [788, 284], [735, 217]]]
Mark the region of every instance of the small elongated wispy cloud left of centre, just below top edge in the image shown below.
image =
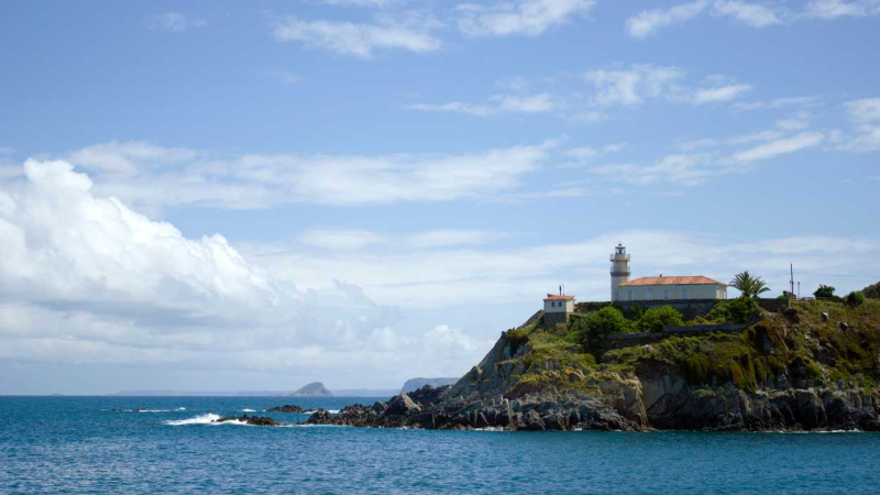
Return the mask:
[[424, 29], [383, 21], [376, 24], [330, 21], [304, 21], [287, 16], [275, 23], [273, 35], [278, 41], [301, 42], [312, 48], [342, 55], [371, 58], [376, 50], [435, 52], [442, 43]]

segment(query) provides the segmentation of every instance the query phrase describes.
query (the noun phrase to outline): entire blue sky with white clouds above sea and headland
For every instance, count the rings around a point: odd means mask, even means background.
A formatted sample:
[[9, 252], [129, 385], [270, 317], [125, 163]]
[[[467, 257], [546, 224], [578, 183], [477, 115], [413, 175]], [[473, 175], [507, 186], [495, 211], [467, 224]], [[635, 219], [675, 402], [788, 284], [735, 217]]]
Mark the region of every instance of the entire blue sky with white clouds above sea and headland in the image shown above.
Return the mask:
[[880, 280], [880, 0], [8, 0], [0, 46], [0, 394], [460, 376], [618, 242]]

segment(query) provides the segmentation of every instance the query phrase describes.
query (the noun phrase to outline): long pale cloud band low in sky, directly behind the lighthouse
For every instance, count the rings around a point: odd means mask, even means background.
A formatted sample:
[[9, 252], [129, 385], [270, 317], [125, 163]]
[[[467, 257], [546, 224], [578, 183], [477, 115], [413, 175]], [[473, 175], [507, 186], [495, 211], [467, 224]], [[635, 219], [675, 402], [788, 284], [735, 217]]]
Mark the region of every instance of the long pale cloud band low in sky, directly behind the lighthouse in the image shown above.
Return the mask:
[[[667, 166], [674, 168], [675, 158]], [[789, 263], [810, 271], [864, 273], [868, 263], [880, 267], [876, 239], [833, 237], [734, 239], [711, 232], [622, 231], [571, 243], [507, 245], [413, 251], [318, 252], [314, 254], [267, 250], [254, 256], [282, 279], [320, 286], [334, 274], [352, 283], [380, 302], [406, 308], [439, 309], [455, 305], [486, 307], [512, 304], [537, 309], [540, 297], [564, 283], [579, 300], [607, 300], [607, 255], [623, 241], [638, 266], [634, 276], [656, 273], [706, 275], [728, 280], [743, 270], [758, 270], [768, 277], [776, 271], [788, 279]], [[856, 260], [835, 257], [842, 243], [854, 246]], [[849, 245], [849, 244], [848, 244]], [[636, 261], [638, 265], [636, 265]], [[877, 268], [873, 268], [877, 270]], [[776, 277], [773, 277], [776, 278]], [[782, 285], [773, 287], [781, 292]], [[530, 311], [524, 311], [529, 314]]]

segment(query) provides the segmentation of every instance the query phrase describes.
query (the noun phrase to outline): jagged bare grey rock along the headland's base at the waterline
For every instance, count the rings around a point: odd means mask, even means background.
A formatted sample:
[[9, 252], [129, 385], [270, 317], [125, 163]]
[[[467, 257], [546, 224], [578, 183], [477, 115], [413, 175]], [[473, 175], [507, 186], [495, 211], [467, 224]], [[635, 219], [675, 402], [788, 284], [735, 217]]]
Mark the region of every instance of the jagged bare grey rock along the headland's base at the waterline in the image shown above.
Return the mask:
[[[794, 330], [796, 331], [796, 329]], [[880, 431], [880, 393], [854, 382], [818, 386], [799, 360], [765, 386], [694, 384], [657, 360], [629, 372], [538, 361], [510, 334], [451, 386], [387, 403], [318, 410], [310, 425], [504, 430]], [[598, 371], [597, 371], [598, 370]], [[604, 370], [604, 371], [602, 371]]]

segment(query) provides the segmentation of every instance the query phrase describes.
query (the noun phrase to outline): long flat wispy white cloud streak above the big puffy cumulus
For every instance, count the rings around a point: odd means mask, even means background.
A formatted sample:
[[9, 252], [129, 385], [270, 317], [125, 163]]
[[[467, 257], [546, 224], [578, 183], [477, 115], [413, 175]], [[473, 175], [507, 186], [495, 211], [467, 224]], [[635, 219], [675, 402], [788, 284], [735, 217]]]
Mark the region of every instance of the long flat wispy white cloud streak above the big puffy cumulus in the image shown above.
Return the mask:
[[[212, 157], [146, 143], [105, 143], [70, 161], [95, 172], [97, 190], [154, 211], [173, 205], [266, 208], [288, 202], [377, 205], [492, 199], [514, 191], [554, 146], [459, 155]], [[190, 160], [185, 160], [190, 158]]]

